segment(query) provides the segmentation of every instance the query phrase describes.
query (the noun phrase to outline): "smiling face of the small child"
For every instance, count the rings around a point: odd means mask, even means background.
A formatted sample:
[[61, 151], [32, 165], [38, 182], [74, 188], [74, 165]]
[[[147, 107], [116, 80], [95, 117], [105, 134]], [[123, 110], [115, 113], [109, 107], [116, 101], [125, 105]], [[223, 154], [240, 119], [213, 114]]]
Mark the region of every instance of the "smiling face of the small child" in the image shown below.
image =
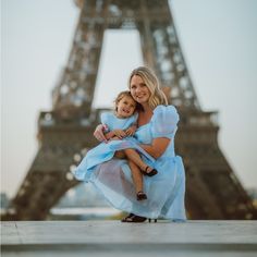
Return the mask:
[[136, 109], [136, 102], [132, 97], [124, 96], [117, 105], [117, 114], [119, 118], [131, 117]]

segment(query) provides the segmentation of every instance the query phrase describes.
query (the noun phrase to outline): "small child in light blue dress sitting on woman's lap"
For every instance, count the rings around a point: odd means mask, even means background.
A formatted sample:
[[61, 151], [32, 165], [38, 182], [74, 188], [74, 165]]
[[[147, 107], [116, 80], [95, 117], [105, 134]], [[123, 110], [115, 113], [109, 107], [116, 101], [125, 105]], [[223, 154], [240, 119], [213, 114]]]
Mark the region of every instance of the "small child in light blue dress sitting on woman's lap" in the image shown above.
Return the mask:
[[106, 138], [108, 143], [101, 143], [93, 148], [84, 157], [77, 169], [75, 176], [77, 180], [89, 178], [90, 170], [97, 164], [108, 161], [114, 157], [126, 158], [132, 171], [133, 182], [136, 188], [137, 200], [147, 199], [143, 191], [143, 173], [148, 176], [157, 174], [157, 170], [145, 163], [138, 150], [147, 159], [154, 162], [154, 158], [144, 151], [132, 136], [137, 128], [136, 101], [130, 91], [121, 91], [115, 99], [115, 112], [105, 112], [101, 114], [101, 123], [106, 125]]

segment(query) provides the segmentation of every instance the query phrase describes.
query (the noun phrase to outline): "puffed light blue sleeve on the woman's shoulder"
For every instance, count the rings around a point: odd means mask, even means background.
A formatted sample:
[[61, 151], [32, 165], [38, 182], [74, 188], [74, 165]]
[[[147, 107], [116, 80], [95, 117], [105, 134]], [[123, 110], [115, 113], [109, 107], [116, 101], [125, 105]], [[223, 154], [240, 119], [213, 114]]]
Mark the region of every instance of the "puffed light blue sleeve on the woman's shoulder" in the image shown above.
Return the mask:
[[180, 120], [179, 113], [173, 106], [158, 106], [154, 110], [151, 120], [152, 137], [172, 138], [176, 132], [176, 124]]

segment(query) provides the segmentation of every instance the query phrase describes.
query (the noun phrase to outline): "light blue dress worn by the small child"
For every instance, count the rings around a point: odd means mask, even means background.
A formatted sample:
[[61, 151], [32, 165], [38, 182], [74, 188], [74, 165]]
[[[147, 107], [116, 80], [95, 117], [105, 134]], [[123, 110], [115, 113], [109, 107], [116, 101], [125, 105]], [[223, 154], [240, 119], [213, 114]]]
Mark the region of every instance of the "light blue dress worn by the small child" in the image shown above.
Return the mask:
[[[108, 126], [108, 131], [113, 130], [126, 130], [133, 124], [136, 124], [137, 113], [127, 118], [120, 119], [111, 112], [103, 112], [101, 114], [101, 123]], [[138, 147], [138, 142], [133, 137], [125, 137], [121, 140], [109, 140], [108, 143], [101, 143], [95, 148], [87, 151], [79, 166], [75, 169], [75, 178], [79, 181], [89, 181], [94, 168], [102, 162], [109, 161], [113, 158], [117, 150], [125, 148], [137, 149], [140, 154], [145, 155], [149, 161], [154, 161], [145, 150]]]

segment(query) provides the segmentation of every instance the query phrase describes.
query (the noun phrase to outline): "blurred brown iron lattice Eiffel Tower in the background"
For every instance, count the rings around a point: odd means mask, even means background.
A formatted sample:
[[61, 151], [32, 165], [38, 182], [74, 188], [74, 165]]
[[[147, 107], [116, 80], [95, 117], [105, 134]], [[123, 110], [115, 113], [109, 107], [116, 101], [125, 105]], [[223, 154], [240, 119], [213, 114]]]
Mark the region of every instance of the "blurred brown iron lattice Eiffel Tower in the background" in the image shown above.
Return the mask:
[[68, 64], [52, 91], [52, 111], [38, 119], [39, 149], [12, 201], [13, 220], [44, 220], [77, 185], [71, 173], [83, 149], [97, 142], [91, 102], [106, 29], [137, 29], [144, 62], [169, 91], [181, 115], [176, 151], [186, 169], [189, 219], [256, 219], [250, 198], [219, 149], [217, 113], [203, 111], [194, 90], [168, 0], [77, 0], [81, 15]]

